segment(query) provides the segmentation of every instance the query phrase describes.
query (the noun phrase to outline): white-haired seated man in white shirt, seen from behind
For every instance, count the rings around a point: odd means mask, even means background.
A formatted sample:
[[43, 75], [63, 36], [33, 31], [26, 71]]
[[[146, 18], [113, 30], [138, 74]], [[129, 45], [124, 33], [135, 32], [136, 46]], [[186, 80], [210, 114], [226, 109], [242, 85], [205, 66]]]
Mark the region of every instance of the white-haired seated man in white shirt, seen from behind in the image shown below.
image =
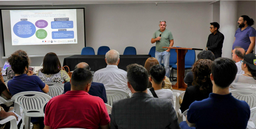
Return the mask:
[[116, 50], [110, 50], [106, 53], [105, 61], [107, 67], [94, 73], [93, 81], [103, 83], [106, 89], [118, 89], [126, 93], [131, 93], [127, 87], [127, 72], [118, 69], [119, 53]]

